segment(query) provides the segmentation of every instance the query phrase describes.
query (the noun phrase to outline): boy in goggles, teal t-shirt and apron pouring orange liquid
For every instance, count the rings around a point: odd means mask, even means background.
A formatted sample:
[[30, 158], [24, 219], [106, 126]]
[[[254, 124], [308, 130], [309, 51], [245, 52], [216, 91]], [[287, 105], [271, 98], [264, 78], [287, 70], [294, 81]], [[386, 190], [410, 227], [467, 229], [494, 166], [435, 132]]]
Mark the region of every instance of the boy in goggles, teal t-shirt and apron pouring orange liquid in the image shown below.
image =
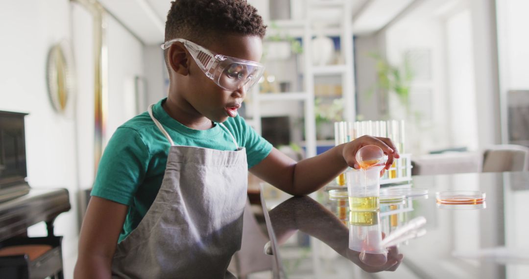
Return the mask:
[[[261, 77], [257, 10], [244, 0], [177, 0], [167, 15], [166, 99], [116, 130], [79, 237], [76, 278], [218, 278], [240, 248], [247, 171], [294, 195], [355, 166], [363, 136], [298, 163], [238, 116]], [[358, 168], [358, 166], [357, 166]], [[117, 244], [117, 245], [116, 245]]]

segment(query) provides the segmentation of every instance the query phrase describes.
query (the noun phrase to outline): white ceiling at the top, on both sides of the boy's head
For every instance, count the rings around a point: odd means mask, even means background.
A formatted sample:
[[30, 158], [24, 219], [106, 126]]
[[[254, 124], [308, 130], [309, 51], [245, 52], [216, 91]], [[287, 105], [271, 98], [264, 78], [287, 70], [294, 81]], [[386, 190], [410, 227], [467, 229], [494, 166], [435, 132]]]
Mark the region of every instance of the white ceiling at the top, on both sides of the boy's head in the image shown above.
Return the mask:
[[[332, 3], [336, 0], [309, 0], [318, 3]], [[353, 1], [352, 30], [355, 34], [371, 33], [386, 26], [400, 13], [421, 0], [345, 0]], [[162, 43], [170, 0], [99, 0], [99, 2], [146, 45]], [[249, 0], [260, 11], [263, 0]], [[300, 3], [293, 1], [292, 3]], [[266, 4], [265, 4], [266, 5]], [[295, 7], [292, 7], [295, 8]], [[300, 8], [300, 7], [297, 7]], [[266, 15], [263, 17], [268, 18]]]

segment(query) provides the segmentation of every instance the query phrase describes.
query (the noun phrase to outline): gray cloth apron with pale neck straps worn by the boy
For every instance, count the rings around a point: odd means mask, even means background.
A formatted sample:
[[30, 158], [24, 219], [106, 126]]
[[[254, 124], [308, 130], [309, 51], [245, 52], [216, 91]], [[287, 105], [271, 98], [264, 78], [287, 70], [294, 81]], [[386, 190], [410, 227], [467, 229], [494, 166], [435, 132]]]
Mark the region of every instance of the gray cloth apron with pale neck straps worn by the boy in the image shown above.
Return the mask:
[[225, 278], [241, 248], [248, 163], [236, 151], [171, 144], [162, 185], [152, 206], [129, 236], [117, 244], [113, 277]]

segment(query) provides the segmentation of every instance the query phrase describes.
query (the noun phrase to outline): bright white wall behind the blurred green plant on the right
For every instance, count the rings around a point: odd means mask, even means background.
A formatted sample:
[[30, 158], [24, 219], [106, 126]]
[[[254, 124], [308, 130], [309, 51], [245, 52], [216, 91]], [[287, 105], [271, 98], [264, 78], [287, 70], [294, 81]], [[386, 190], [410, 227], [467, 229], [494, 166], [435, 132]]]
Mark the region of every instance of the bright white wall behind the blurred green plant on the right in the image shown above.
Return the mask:
[[[425, 69], [414, 69], [409, 93], [412, 115], [406, 116], [395, 94], [389, 96], [390, 117], [406, 119], [406, 152], [413, 154], [445, 148], [450, 142], [442, 20], [434, 14], [439, 3], [423, 2], [384, 31], [387, 60], [400, 69], [404, 67], [406, 53], [412, 53], [413, 57], [429, 53], [423, 56], [424, 60], [409, 59], [412, 64], [429, 61], [423, 63]], [[430, 74], [426, 75], [426, 71]], [[414, 120], [415, 111], [423, 114], [419, 122]]]

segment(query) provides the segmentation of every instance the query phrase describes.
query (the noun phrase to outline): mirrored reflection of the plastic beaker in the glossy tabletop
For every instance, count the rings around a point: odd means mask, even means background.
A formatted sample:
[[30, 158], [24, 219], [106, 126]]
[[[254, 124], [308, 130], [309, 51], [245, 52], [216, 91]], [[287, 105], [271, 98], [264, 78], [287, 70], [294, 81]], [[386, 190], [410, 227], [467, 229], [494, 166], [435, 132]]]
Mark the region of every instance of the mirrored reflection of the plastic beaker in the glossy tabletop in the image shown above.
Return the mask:
[[382, 230], [379, 212], [351, 211], [349, 224], [349, 249], [360, 252], [360, 259], [365, 264], [385, 264], [387, 250], [380, 245]]

